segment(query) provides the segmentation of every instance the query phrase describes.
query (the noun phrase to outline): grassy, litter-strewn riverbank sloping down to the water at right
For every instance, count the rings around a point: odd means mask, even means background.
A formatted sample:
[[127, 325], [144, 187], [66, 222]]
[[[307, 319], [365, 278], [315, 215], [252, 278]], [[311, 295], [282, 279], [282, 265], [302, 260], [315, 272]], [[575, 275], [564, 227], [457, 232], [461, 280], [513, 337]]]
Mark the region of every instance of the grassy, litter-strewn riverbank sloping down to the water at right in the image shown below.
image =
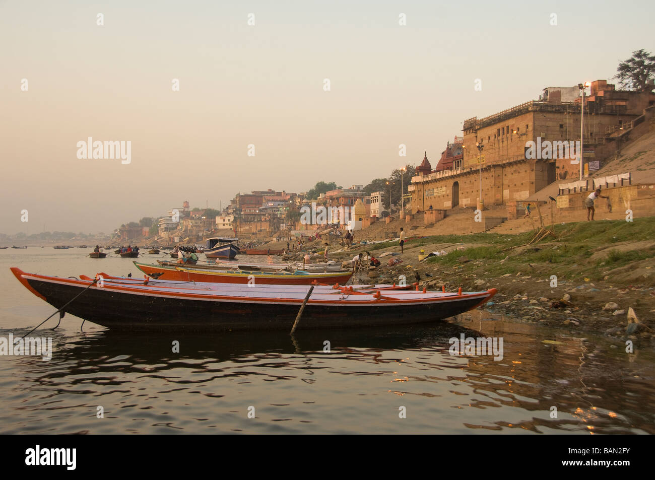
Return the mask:
[[[365, 251], [383, 261], [370, 274], [358, 272], [354, 283], [400, 282], [405, 276], [407, 283], [428, 290], [496, 288], [487, 310], [522, 322], [650, 341], [655, 338], [654, 231], [655, 217], [648, 217], [555, 225], [555, 236], [529, 245], [533, 232], [413, 238], [402, 254], [398, 240], [352, 248], [332, 244], [328, 251], [337, 261]], [[318, 252], [321, 244], [317, 240], [305, 248]], [[419, 261], [421, 251], [445, 255]], [[402, 263], [390, 267], [390, 258]]]

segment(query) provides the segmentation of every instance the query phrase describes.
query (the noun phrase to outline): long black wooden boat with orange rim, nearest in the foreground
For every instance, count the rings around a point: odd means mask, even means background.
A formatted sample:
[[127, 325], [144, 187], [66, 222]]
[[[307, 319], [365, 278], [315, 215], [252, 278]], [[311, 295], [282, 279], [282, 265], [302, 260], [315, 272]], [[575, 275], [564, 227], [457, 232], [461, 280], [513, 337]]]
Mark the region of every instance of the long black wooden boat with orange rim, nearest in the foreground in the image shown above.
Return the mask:
[[[29, 291], [55, 308], [111, 329], [155, 331], [290, 330], [309, 286], [230, 289], [107, 278], [103, 285], [11, 268]], [[316, 289], [300, 329], [435, 322], [489, 301], [496, 289], [462, 293]], [[79, 297], [78, 297], [79, 295]], [[74, 299], [71, 302], [71, 299]], [[70, 302], [70, 303], [69, 303]]]

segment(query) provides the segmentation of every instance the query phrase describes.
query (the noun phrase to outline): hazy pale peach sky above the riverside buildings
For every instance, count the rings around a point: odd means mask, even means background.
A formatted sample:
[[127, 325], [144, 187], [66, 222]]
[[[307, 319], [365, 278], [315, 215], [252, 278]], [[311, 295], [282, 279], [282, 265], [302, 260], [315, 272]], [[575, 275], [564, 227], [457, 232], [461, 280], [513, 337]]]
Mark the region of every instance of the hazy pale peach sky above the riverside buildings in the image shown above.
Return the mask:
[[[655, 3], [622, 5], [0, 0], [0, 232], [109, 232], [183, 200], [365, 185], [424, 150], [434, 166], [464, 119], [654, 51]], [[130, 164], [77, 158], [88, 137], [131, 141]]]

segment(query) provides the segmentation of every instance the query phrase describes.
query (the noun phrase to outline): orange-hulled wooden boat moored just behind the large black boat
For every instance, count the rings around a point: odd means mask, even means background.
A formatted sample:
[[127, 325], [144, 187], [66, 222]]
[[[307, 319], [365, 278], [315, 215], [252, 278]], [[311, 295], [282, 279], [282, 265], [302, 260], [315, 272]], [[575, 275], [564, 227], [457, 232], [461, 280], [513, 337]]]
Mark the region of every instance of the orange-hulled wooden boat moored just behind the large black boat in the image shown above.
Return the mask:
[[175, 265], [148, 265], [134, 262], [136, 268], [152, 278], [178, 280], [181, 282], [210, 282], [223, 284], [273, 284], [273, 285], [311, 285], [312, 282], [324, 284], [345, 284], [352, 276], [350, 270], [343, 272], [310, 273], [303, 270], [288, 272], [278, 270], [263, 272], [254, 270], [210, 270], [208, 268], [188, 267], [182, 263]]

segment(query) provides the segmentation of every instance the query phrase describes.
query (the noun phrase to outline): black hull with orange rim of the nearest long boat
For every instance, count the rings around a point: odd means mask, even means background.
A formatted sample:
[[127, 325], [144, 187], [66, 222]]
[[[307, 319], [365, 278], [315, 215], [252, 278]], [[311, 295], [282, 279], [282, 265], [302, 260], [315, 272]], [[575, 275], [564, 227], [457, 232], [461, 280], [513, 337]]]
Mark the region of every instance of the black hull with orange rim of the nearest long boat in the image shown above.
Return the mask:
[[[26, 274], [12, 268], [16, 278], [32, 293], [55, 308], [104, 327], [132, 331], [236, 331], [289, 330], [302, 299], [244, 299], [170, 292], [149, 294], [130, 287], [91, 287], [89, 282]], [[86, 291], [84, 291], [86, 289]], [[436, 322], [488, 301], [496, 290], [453, 295], [439, 301], [361, 302], [344, 305], [338, 300], [310, 300], [303, 311], [301, 329], [372, 327]], [[332, 305], [327, 305], [331, 303]]]

